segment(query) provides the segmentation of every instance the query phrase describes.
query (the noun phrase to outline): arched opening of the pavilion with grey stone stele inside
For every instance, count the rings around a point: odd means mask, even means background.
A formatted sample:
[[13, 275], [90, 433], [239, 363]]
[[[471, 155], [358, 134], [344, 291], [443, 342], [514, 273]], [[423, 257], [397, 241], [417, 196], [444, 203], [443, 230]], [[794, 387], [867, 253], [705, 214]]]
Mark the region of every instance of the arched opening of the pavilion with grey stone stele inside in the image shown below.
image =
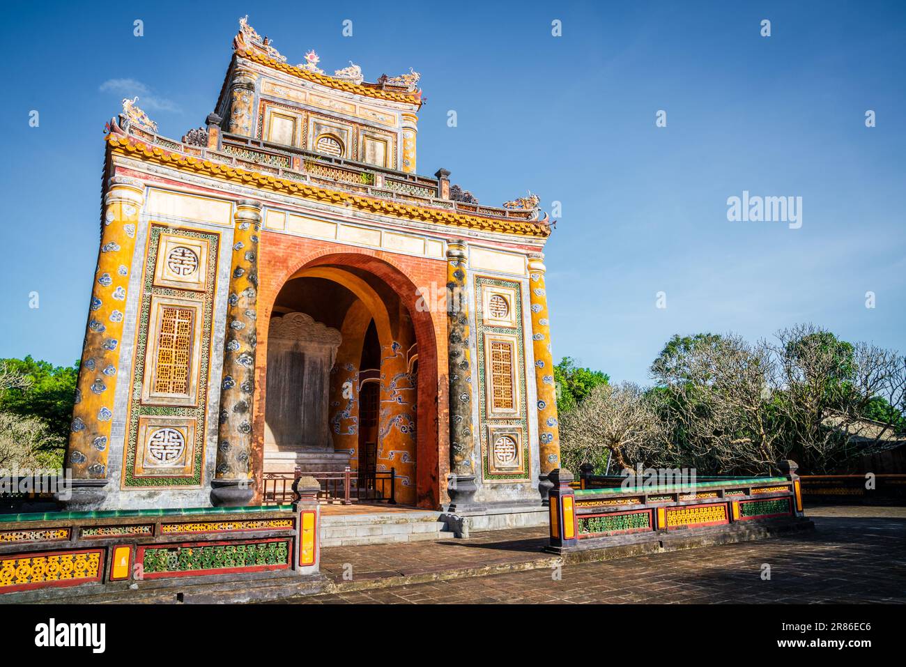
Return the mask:
[[416, 286], [378, 257], [337, 254], [272, 289], [258, 323], [256, 469], [392, 468], [400, 504], [438, 507], [439, 355]]

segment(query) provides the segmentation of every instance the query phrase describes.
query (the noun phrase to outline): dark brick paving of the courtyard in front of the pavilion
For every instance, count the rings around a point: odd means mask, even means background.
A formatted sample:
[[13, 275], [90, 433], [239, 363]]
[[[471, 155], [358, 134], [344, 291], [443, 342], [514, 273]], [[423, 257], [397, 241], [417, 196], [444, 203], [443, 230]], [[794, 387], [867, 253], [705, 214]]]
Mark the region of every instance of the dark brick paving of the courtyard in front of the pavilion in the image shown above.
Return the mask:
[[[323, 571], [355, 578], [475, 566], [533, 566], [497, 575], [459, 575], [425, 584], [299, 597], [294, 604], [906, 603], [906, 507], [808, 507], [814, 533], [581, 565], [562, 578], [539, 566], [544, 531], [507, 531], [419, 546], [323, 550]], [[763, 581], [762, 565], [771, 567]]]

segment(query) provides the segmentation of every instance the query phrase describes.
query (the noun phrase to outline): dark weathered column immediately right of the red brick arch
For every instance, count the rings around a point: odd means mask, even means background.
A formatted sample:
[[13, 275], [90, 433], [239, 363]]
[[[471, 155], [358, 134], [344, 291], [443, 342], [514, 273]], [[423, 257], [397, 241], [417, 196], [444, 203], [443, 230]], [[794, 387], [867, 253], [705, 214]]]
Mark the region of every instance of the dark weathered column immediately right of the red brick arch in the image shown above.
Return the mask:
[[447, 247], [447, 330], [450, 386], [449, 511], [473, 506], [475, 484], [475, 432], [472, 423], [472, 364], [468, 349], [468, 287], [465, 244]]

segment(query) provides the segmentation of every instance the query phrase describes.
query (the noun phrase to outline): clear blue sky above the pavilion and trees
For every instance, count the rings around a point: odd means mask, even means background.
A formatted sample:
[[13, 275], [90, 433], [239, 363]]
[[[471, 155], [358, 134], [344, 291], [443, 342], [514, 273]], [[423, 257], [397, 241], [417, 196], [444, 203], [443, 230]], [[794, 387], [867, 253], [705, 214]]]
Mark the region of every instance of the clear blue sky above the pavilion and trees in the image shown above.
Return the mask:
[[[244, 14], [291, 63], [313, 48], [327, 72], [420, 72], [420, 173], [449, 169], [492, 205], [525, 189], [562, 202], [556, 357], [645, 383], [673, 333], [754, 340], [797, 322], [906, 349], [906, 4], [6, 6], [0, 356], [81, 353], [102, 128], [128, 92], [115, 80], [180, 137], [212, 111]], [[729, 222], [744, 190], [802, 197], [802, 227]]]

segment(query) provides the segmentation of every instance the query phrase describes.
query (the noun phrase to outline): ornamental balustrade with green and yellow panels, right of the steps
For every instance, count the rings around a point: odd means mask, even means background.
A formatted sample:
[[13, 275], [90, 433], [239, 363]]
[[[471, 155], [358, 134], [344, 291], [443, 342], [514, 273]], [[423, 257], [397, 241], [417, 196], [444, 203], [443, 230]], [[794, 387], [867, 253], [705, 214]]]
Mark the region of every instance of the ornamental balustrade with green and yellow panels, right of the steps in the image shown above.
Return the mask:
[[[679, 531], [735, 531], [753, 524], [805, 522], [795, 461], [783, 476], [708, 477], [693, 483], [625, 486], [626, 478], [550, 473], [549, 550], [562, 553], [662, 539]], [[689, 533], [687, 533], [689, 534]]]

